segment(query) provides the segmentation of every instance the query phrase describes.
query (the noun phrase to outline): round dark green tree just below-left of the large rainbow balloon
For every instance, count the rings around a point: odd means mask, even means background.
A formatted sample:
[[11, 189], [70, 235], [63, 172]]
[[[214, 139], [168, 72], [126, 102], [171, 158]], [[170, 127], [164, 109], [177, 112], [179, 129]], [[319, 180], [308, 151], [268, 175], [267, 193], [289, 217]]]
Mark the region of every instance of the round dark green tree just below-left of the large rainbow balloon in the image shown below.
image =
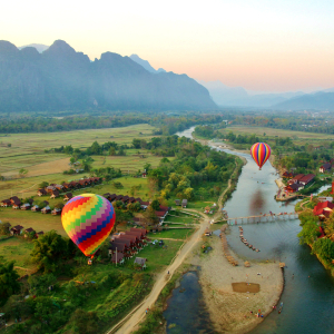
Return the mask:
[[62, 236], [52, 229], [33, 240], [33, 244], [31, 256], [38, 269], [43, 269], [45, 273], [56, 272], [57, 262], [67, 252]]

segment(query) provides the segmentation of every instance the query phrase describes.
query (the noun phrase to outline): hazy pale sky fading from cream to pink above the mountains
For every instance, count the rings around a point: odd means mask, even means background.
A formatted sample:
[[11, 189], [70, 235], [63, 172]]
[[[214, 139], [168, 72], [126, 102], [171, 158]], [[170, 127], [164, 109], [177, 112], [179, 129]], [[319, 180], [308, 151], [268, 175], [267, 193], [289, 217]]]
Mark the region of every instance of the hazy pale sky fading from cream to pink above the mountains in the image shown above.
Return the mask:
[[262, 91], [334, 87], [334, 0], [1, 3], [0, 39], [67, 41], [91, 59], [137, 53], [155, 68]]

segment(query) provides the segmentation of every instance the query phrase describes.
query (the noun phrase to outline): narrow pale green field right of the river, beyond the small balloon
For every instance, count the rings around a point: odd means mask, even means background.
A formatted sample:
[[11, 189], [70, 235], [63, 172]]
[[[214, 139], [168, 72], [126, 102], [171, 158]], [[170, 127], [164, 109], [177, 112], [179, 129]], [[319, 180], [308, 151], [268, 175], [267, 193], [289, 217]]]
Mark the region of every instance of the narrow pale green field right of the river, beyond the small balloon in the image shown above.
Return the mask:
[[298, 145], [305, 145], [305, 141], [312, 141], [312, 144], [324, 144], [324, 141], [334, 140], [334, 135], [315, 134], [304, 131], [293, 131], [283, 129], [273, 129], [266, 127], [246, 127], [246, 126], [232, 126], [219, 130], [220, 132], [228, 134], [229, 131], [235, 135], [252, 135], [263, 136], [266, 134], [268, 137], [291, 137]]

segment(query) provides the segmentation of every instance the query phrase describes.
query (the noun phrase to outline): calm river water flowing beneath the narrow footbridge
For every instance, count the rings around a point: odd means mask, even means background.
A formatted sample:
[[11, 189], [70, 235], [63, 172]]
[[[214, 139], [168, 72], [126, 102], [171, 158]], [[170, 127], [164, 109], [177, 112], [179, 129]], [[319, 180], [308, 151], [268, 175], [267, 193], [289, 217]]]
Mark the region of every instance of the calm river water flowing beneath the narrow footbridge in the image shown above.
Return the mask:
[[[194, 128], [177, 135], [191, 138]], [[220, 150], [220, 149], [219, 149]], [[223, 150], [223, 149], [222, 149]], [[245, 217], [273, 212], [292, 213], [296, 202], [276, 202], [277, 191], [275, 179], [276, 169], [267, 161], [262, 170], [248, 154], [239, 154], [224, 149], [224, 151], [242, 156], [247, 159], [238, 179], [236, 190], [226, 203], [225, 208], [229, 217]], [[334, 279], [322, 266], [308, 246], [299, 245], [297, 234], [301, 230], [299, 220], [285, 220], [274, 223], [243, 224], [244, 237], [261, 252], [256, 253], [246, 247], [238, 237], [238, 227], [232, 226], [227, 236], [229, 246], [244, 259], [263, 261], [276, 259], [284, 262], [285, 287], [281, 302], [283, 312], [271, 313], [252, 334], [305, 334], [334, 332]], [[199, 297], [200, 298], [200, 297]], [[191, 298], [190, 298], [191, 299]], [[175, 301], [175, 302], [174, 302]], [[169, 311], [179, 303], [171, 298]], [[194, 301], [189, 301], [194, 303]], [[184, 306], [184, 310], [185, 306]], [[194, 312], [196, 313], [195, 308]], [[202, 311], [203, 312], [203, 311]], [[195, 314], [194, 313], [194, 314]], [[183, 315], [180, 310], [179, 317]], [[166, 314], [167, 323], [168, 316]], [[212, 328], [202, 333], [210, 333]], [[171, 332], [168, 332], [171, 333]], [[197, 327], [187, 332], [199, 333]]]

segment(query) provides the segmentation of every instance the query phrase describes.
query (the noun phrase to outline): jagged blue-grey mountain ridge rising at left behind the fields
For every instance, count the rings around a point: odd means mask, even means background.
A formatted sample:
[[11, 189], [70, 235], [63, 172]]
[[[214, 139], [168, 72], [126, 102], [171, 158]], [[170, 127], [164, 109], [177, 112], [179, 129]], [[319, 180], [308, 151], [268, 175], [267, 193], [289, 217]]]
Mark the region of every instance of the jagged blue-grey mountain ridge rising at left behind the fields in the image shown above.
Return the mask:
[[57, 40], [42, 53], [0, 41], [0, 110], [209, 110], [206, 88], [186, 75], [150, 73], [129, 57], [90, 61]]

